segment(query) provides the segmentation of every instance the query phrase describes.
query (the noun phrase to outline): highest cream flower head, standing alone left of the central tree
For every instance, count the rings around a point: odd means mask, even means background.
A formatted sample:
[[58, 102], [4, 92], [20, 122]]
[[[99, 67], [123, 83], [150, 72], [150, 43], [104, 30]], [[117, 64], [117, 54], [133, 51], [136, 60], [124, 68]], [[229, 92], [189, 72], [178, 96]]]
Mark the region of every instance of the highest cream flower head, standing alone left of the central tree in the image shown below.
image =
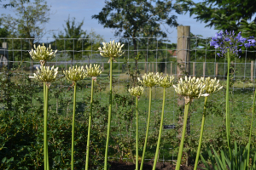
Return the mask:
[[109, 59], [114, 59], [117, 57], [122, 56], [125, 52], [122, 51], [122, 47], [124, 44], [121, 45], [120, 42], [115, 43], [114, 40], [111, 42], [102, 42], [103, 47], [99, 47], [100, 54], [102, 57], [108, 57]]

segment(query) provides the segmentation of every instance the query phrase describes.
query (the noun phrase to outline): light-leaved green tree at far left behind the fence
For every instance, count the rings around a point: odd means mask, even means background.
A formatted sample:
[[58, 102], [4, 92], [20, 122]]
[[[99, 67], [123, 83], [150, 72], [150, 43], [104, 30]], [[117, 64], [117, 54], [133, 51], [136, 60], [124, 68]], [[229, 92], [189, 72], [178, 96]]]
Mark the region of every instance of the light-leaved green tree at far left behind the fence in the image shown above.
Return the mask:
[[[44, 0], [11, 0], [9, 4], [15, 9], [15, 16], [2, 14], [3, 26], [8, 27], [10, 37], [29, 38], [26, 46], [32, 48], [35, 41], [38, 42], [45, 34], [44, 24], [49, 22], [49, 6]], [[23, 56], [30, 59], [28, 53]]]

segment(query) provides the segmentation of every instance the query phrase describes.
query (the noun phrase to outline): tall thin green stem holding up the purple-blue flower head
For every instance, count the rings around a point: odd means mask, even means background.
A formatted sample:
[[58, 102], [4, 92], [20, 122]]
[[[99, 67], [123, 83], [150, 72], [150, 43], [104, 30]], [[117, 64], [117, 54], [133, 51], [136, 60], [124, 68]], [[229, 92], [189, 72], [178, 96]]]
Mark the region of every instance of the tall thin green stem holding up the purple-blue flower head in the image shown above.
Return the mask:
[[228, 147], [230, 152], [230, 160], [232, 160], [231, 148], [230, 148], [230, 50], [229, 48], [227, 52], [227, 59], [228, 59], [228, 73], [227, 73], [227, 85], [226, 85], [226, 132], [227, 132]]

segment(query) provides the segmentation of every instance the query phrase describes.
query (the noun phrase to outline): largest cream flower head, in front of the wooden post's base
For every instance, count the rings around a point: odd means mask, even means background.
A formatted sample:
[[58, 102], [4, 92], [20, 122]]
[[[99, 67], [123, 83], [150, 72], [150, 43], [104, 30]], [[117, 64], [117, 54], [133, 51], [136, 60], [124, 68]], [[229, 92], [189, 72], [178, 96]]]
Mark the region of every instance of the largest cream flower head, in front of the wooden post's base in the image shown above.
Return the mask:
[[201, 78], [191, 78], [185, 77], [180, 78], [177, 86], [173, 85], [177, 94], [182, 95], [185, 98], [185, 103], [188, 104], [192, 102], [195, 98], [200, 98], [201, 96], [207, 96], [208, 94], [203, 94], [206, 88], [204, 82]]

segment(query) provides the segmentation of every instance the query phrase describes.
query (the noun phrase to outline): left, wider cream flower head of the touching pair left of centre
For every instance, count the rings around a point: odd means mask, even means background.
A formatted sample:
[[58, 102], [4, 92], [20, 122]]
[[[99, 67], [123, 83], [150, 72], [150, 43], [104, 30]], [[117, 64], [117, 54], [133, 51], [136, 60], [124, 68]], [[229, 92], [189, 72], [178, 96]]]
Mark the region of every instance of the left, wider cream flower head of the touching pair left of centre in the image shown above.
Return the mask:
[[76, 67], [69, 67], [69, 70], [67, 71], [63, 71], [65, 77], [67, 78], [67, 80], [69, 81], [73, 81], [73, 82], [77, 82], [79, 80], [83, 80], [85, 77], [87, 77], [86, 71], [84, 70], [84, 67], [78, 67], [78, 65], [76, 65]]

